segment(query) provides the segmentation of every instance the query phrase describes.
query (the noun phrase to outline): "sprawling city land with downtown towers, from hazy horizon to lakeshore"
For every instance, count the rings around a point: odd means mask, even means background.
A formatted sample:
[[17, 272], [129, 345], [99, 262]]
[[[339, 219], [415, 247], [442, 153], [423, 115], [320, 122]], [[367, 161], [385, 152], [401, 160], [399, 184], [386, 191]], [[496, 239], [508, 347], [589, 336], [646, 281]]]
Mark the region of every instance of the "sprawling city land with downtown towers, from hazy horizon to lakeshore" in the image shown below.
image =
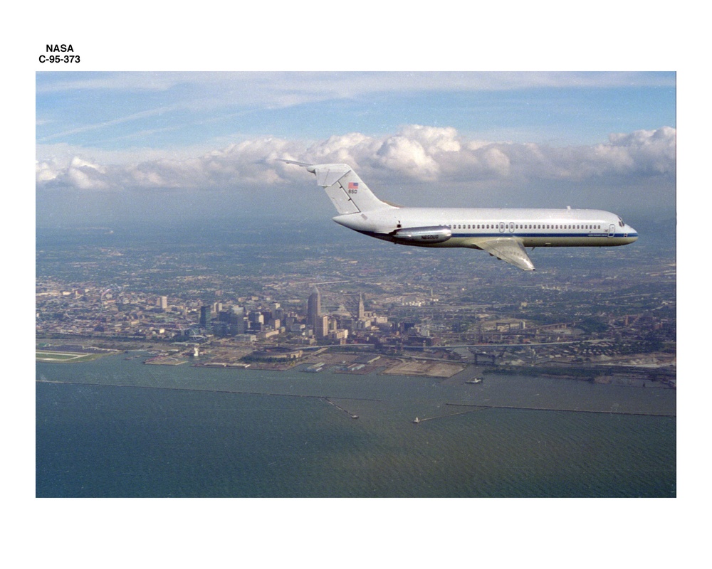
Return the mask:
[[[69, 260], [38, 250], [38, 358], [149, 349], [150, 363], [319, 371], [338, 353], [353, 373], [449, 363], [433, 375], [478, 366], [675, 385], [674, 259], [640, 255], [636, 270], [608, 270], [614, 257], [592, 252], [593, 268], [564, 262], [532, 278], [483, 255], [455, 257], [467, 260], [458, 266], [406, 248], [373, 262], [373, 251], [293, 245], [280, 258], [235, 258], [97, 246]], [[236, 270], [221, 270], [231, 258]]]

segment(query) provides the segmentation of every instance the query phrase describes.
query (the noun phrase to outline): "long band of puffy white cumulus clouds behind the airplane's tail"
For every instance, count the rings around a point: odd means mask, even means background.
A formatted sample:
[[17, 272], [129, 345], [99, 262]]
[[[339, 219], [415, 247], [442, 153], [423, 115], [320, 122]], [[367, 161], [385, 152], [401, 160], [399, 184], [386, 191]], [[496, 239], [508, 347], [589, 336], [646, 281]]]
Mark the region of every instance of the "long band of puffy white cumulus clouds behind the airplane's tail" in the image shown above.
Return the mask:
[[84, 191], [223, 190], [303, 180], [303, 171], [277, 161], [283, 157], [345, 162], [362, 175], [392, 172], [416, 181], [443, 183], [643, 178], [675, 174], [676, 130], [639, 130], [611, 134], [608, 142], [592, 146], [548, 147], [472, 140], [451, 127], [407, 125], [384, 137], [355, 132], [312, 144], [252, 139], [192, 158], [164, 156], [131, 164], [99, 164], [77, 152], [64, 161], [38, 161], [36, 185]]

